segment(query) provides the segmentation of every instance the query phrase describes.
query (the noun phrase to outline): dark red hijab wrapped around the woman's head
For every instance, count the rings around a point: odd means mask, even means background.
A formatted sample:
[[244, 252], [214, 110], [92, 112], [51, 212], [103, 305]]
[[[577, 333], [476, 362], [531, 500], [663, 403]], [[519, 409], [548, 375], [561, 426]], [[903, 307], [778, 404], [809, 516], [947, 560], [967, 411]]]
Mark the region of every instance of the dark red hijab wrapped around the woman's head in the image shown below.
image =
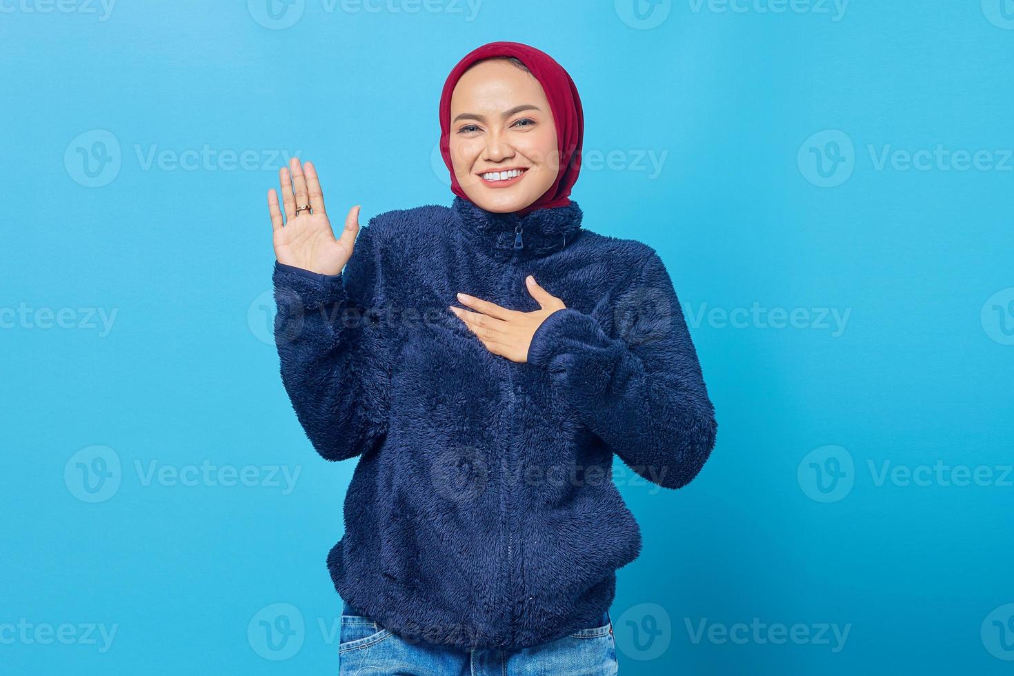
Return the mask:
[[581, 170], [581, 142], [584, 137], [581, 98], [577, 94], [574, 81], [563, 66], [545, 52], [521, 43], [489, 43], [473, 50], [457, 62], [444, 82], [443, 93], [440, 96], [440, 153], [443, 155], [444, 164], [450, 170], [451, 192], [463, 200], [468, 200], [457, 182], [450, 158], [450, 96], [464, 71], [477, 62], [491, 57], [516, 57], [531, 71], [542, 85], [557, 127], [557, 145], [560, 151], [560, 171], [557, 179], [541, 197], [517, 214], [524, 216], [536, 209], [569, 205], [568, 196]]

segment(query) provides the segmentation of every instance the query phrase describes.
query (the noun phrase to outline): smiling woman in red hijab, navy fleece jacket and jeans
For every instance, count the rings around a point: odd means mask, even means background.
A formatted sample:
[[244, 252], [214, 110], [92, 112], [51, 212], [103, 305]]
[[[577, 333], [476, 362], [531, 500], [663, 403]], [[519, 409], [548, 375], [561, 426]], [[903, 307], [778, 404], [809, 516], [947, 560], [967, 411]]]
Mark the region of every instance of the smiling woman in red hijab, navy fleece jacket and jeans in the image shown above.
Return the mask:
[[450, 208], [360, 231], [356, 206], [336, 239], [295, 159], [268, 198], [283, 382], [320, 455], [359, 456], [328, 556], [342, 673], [615, 673], [608, 607], [641, 534], [612, 455], [697, 475], [716, 433], [697, 353], [656, 251], [581, 227], [559, 64], [480, 47], [440, 127]]

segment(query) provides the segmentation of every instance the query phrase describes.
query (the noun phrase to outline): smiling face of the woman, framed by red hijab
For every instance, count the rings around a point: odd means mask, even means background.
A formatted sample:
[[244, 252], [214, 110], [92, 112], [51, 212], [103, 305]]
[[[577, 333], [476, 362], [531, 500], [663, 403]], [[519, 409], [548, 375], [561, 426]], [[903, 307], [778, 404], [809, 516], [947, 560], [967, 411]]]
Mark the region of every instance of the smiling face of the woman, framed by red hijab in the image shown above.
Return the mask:
[[557, 179], [557, 128], [542, 86], [526, 71], [498, 59], [476, 64], [454, 86], [450, 119], [454, 175], [486, 211], [524, 209]]

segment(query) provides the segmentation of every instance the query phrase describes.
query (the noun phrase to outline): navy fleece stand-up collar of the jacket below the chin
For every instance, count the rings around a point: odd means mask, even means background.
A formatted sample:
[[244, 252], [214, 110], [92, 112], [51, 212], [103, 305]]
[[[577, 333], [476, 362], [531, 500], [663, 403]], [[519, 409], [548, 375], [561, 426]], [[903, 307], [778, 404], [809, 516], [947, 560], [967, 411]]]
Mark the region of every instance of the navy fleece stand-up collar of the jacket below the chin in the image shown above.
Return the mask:
[[563, 250], [581, 234], [584, 215], [573, 200], [563, 207], [536, 209], [519, 217], [486, 211], [458, 196], [454, 196], [451, 213], [467, 237], [504, 258], [514, 253], [531, 257]]

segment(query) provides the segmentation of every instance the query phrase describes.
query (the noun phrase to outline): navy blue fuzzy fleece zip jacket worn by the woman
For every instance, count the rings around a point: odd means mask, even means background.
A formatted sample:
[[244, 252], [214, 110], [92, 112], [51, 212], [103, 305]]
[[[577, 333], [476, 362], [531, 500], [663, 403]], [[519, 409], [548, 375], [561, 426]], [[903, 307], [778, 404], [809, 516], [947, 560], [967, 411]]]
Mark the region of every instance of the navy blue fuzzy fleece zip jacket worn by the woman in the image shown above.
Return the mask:
[[[527, 363], [490, 353], [457, 292], [563, 300]], [[339, 275], [275, 262], [275, 336], [296, 417], [358, 458], [328, 555], [343, 599], [395, 633], [518, 650], [596, 626], [641, 532], [612, 457], [690, 482], [717, 424], [672, 282], [651, 246], [455, 197], [370, 219]]]

